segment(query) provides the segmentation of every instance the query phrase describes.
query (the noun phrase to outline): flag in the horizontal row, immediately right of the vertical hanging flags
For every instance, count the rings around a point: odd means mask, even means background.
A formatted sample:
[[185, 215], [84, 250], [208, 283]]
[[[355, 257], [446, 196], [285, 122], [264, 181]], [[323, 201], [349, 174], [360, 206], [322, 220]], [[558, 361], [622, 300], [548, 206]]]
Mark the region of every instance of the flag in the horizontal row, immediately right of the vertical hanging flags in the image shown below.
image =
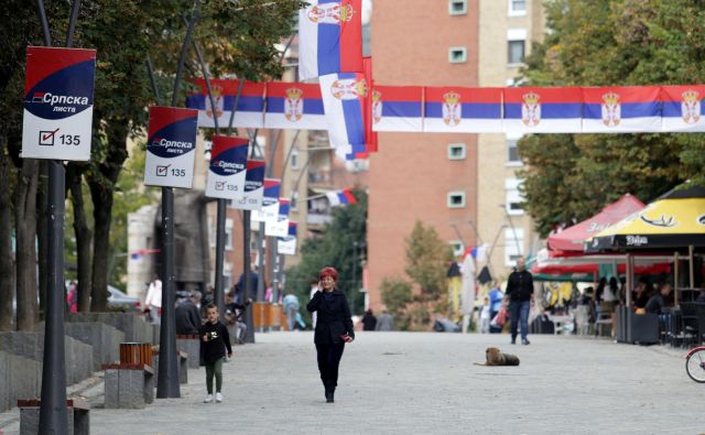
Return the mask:
[[423, 131], [423, 87], [375, 86], [371, 96], [372, 130]]

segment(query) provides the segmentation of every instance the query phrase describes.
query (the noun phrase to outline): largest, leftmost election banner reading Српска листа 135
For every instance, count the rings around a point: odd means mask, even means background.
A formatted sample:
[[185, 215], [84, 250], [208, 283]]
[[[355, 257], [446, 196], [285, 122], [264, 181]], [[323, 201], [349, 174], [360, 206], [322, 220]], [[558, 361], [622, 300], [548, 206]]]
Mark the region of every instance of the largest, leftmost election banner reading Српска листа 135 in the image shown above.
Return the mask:
[[96, 51], [26, 47], [23, 159], [90, 160]]

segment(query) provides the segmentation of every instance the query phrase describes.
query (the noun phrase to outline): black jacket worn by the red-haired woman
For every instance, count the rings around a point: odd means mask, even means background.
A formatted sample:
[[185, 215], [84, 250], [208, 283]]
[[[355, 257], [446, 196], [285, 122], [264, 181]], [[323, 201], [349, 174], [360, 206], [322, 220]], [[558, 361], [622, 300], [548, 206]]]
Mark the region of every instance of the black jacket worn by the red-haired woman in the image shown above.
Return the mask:
[[306, 305], [306, 309], [311, 313], [318, 313], [313, 339], [316, 345], [344, 342], [340, 336], [346, 334], [355, 338], [350, 306], [345, 298], [345, 294], [338, 289], [335, 289], [330, 294], [333, 295], [333, 301], [327, 302], [323, 297], [323, 292], [317, 291], [308, 302], [308, 305]]

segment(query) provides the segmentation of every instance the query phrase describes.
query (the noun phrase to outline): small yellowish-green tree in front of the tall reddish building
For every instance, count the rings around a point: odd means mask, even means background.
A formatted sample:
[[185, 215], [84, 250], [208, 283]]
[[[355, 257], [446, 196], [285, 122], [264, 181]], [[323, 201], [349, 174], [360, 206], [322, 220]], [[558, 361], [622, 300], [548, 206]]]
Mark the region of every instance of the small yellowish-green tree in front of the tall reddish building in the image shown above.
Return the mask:
[[453, 259], [451, 247], [438, 237], [435, 228], [416, 220], [406, 238], [404, 272], [421, 287], [422, 301], [437, 301], [445, 292], [445, 272]]

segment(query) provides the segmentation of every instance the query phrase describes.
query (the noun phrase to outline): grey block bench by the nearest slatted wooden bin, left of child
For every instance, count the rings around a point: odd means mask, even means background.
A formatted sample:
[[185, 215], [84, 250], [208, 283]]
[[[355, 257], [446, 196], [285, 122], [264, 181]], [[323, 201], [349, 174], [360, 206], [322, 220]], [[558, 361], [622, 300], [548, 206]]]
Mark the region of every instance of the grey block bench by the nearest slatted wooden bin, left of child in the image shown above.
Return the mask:
[[154, 369], [148, 365], [102, 365], [106, 409], [143, 409], [154, 401]]

